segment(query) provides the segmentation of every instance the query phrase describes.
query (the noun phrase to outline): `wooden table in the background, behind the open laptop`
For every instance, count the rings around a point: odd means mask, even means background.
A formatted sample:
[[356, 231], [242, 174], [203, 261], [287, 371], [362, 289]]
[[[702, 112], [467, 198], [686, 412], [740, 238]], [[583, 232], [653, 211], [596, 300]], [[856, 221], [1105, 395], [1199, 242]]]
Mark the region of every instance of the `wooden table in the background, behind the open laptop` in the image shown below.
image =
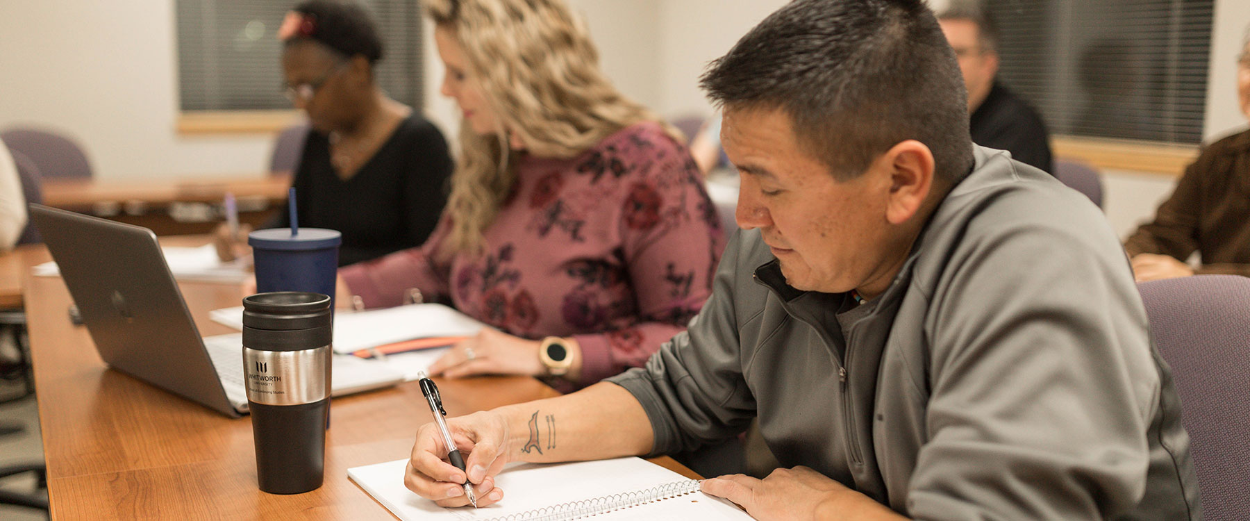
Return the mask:
[[151, 229], [156, 235], [208, 234], [221, 221], [225, 195], [239, 200], [239, 219], [259, 226], [286, 200], [290, 175], [174, 179], [50, 179], [44, 204]]

